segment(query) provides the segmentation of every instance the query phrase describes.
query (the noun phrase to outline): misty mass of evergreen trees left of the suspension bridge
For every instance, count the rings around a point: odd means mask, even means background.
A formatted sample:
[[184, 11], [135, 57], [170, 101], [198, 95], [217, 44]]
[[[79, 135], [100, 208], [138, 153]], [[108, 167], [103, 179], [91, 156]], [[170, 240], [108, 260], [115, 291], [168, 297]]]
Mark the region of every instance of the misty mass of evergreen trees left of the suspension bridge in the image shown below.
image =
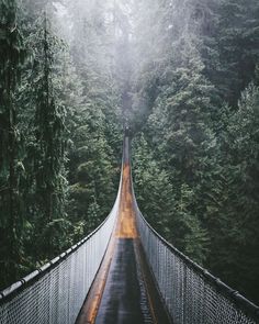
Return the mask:
[[[72, 19], [77, 23], [69, 38], [64, 29], [69, 48], [57, 36], [57, 3], [23, 0], [18, 16], [14, 1], [0, 4], [0, 281], [4, 288], [81, 239], [108, 215], [119, 181], [121, 130], [111, 58], [105, 51], [98, 55], [110, 33], [109, 26], [103, 26], [100, 37], [95, 33], [99, 14], [88, 31], [77, 16]], [[92, 15], [85, 18], [90, 22]], [[93, 42], [99, 37], [91, 53], [86, 43], [90, 33]], [[10, 69], [14, 72], [7, 85]], [[10, 116], [14, 127], [9, 156]]]

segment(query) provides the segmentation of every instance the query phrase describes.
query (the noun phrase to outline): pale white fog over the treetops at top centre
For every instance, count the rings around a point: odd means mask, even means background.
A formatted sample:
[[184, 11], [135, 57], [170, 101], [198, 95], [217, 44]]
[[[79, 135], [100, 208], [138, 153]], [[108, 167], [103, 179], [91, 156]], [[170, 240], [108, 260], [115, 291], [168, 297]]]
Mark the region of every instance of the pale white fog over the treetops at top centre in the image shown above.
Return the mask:
[[[195, 55], [193, 40], [210, 21], [205, 1], [198, 5], [187, 0], [63, 0], [48, 2], [41, 10], [37, 1], [23, 1], [38, 14], [47, 8], [74, 64], [85, 70], [82, 78], [92, 87], [104, 79], [116, 85], [126, 115], [145, 114], [149, 109], [145, 94], [138, 93], [146, 71], [167, 78], [169, 65], [182, 64], [191, 52]], [[90, 75], [94, 75], [92, 80]]]

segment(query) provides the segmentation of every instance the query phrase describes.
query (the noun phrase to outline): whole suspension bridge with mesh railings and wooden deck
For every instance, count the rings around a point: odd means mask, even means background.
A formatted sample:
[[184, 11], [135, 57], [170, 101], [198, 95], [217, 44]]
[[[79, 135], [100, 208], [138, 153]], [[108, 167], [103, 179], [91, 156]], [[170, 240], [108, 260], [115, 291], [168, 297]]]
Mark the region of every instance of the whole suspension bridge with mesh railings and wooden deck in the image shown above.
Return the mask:
[[89, 236], [0, 292], [0, 324], [259, 323], [259, 308], [167, 243], [134, 195], [124, 137], [117, 198]]

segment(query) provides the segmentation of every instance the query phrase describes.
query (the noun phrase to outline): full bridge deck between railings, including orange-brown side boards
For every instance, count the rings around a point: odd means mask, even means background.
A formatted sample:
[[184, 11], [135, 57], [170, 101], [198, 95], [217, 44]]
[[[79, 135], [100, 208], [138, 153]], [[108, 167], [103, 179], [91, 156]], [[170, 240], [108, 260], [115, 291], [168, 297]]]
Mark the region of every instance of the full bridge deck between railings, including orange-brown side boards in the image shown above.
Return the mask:
[[116, 228], [78, 324], [169, 323], [142, 252], [134, 205], [126, 161]]

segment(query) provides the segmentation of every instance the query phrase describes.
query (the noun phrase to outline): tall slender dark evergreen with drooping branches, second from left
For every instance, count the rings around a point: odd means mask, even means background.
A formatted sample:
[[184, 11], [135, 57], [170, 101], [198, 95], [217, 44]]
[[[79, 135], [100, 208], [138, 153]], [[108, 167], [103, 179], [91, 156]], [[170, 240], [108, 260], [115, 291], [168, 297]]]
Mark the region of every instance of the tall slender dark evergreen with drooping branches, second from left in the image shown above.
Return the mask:
[[[40, 248], [45, 248], [46, 256], [55, 253], [54, 227], [57, 220], [64, 215], [65, 204], [65, 134], [64, 107], [57, 101], [53, 85], [54, 51], [57, 40], [49, 32], [49, 21], [45, 13], [43, 25], [38, 33], [38, 48], [35, 65], [38, 78], [35, 83], [35, 198], [37, 212], [42, 211], [42, 217], [37, 225], [47, 224], [45, 239], [40, 236]], [[60, 220], [61, 221], [61, 220]], [[38, 232], [38, 231], [36, 231]], [[56, 233], [58, 235], [58, 233]], [[42, 244], [44, 243], [44, 246]]]

